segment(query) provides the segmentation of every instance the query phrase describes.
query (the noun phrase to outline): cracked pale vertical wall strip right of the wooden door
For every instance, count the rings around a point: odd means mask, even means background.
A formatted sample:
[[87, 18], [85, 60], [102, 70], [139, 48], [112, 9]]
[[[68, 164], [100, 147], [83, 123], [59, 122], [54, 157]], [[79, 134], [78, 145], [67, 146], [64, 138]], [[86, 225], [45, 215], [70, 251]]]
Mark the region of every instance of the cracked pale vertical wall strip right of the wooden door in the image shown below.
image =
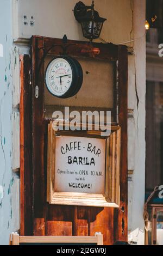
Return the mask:
[[146, 95], [146, 1], [133, 1], [134, 56], [129, 57], [129, 233], [138, 245], [145, 242], [143, 205], [145, 202], [145, 95]]

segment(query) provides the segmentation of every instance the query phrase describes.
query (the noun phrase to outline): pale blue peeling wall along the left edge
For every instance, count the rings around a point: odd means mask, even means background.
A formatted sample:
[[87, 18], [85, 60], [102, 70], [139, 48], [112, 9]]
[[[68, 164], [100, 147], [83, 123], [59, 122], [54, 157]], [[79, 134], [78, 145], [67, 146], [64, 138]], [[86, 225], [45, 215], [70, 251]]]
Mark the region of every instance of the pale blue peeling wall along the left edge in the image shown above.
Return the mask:
[[0, 57], [0, 245], [8, 244], [11, 231], [19, 229], [19, 179], [16, 173], [12, 173], [11, 166], [12, 120], [14, 120], [11, 4], [11, 0], [1, 0], [0, 8], [0, 44], [3, 46]]

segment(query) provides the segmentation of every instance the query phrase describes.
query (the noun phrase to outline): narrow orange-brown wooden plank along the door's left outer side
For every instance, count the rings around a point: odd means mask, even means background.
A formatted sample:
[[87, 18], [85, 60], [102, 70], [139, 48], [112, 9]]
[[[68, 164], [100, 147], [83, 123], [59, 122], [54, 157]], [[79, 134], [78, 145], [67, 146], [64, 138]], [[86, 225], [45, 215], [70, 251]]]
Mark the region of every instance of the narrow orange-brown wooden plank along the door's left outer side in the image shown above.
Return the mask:
[[32, 95], [29, 84], [30, 58], [20, 56], [20, 232], [31, 235], [32, 223]]

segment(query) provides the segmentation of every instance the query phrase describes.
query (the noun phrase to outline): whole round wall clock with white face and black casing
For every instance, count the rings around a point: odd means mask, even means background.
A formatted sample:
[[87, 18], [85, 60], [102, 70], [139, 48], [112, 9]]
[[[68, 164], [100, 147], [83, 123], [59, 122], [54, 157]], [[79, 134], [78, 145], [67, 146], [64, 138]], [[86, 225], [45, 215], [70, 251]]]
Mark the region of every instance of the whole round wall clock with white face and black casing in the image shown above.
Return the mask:
[[76, 95], [83, 83], [83, 70], [77, 59], [60, 56], [49, 62], [45, 72], [48, 91], [56, 97], [66, 99]]

